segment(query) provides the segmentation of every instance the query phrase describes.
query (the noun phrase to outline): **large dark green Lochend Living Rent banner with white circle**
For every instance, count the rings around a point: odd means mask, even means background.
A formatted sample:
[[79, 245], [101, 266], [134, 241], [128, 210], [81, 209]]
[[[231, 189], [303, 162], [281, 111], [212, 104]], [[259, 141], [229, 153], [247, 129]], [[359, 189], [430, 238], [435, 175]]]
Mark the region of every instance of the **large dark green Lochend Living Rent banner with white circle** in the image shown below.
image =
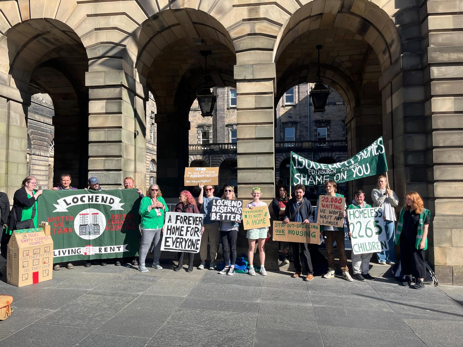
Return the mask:
[[139, 201], [136, 189], [44, 191], [38, 223], [50, 224], [53, 263], [137, 255]]

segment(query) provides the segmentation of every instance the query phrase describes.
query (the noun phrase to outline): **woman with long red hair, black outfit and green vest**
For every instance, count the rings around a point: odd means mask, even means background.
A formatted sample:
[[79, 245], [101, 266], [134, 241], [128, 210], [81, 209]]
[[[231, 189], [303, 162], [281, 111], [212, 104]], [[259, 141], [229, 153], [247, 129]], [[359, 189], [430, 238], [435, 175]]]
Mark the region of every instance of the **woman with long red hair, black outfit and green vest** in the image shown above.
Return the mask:
[[[400, 209], [395, 244], [400, 245], [400, 266], [405, 274], [402, 285], [415, 289], [424, 287], [426, 276], [425, 250], [428, 248], [428, 226], [431, 212], [425, 209], [417, 192], [405, 195], [405, 206]], [[412, 286], [412, 282], [415, 284]]]

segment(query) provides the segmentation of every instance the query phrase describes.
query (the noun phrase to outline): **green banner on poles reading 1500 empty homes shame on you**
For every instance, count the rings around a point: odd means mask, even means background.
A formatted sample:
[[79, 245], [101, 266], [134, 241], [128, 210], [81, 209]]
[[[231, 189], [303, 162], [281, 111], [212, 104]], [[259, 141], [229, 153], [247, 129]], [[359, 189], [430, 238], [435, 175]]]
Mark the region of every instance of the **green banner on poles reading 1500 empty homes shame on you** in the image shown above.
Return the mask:
[[291, 186], [323, 186], [327, 180], [336, 183], [358, 180], [388, 171], [382, 137], [346, 161], [320, 164], [291, 152]]

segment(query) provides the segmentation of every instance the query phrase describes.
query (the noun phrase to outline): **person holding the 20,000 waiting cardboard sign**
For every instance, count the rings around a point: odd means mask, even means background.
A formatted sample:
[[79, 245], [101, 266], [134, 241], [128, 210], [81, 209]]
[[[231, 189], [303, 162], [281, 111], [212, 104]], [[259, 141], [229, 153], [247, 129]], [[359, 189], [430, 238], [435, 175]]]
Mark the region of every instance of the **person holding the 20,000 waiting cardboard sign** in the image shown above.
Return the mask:
[[[326, 190], [327, 196], [335, 196], [344, 198], [344, 195], [338, 194], [338, 185], [333, 180], [328, 180], [325, 182], [324, 186]], [[345, 218], [346, 213], [345, 211], [340, 212], [342, 216]], [[345, 225], [345, 220], [344, 220]], [[324, 279], [330, 279], [334, 277], [334, 273], [336, 270], [336, 266], [334, 265], [334, 242], [336, 241], [336, 248], [339, 252], [339, 267], [343, 273], [343, 278], [346, 281], [353, 281], [352, 277], [349, 274], [349, 268], [347, 267], [347, 257], [346, 251], [344, 248], [344, 227], [336, 228], [330, 225], [320, 225], [320, 231], [323, 233], [325, 237], [325, 247], [326, 247], [326, 254], [328, 255], [328, 272], [325, 273], [322, 277]]]

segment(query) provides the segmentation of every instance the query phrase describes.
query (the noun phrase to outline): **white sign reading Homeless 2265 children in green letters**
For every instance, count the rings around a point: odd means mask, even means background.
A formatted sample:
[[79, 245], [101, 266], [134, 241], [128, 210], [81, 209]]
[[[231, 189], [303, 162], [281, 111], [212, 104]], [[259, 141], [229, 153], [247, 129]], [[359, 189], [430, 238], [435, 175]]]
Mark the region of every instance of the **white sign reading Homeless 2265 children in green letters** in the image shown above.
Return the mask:
[[389, 250], [382, 208], [349, 209], [347, 217], [354, 254], [376, 253]]

